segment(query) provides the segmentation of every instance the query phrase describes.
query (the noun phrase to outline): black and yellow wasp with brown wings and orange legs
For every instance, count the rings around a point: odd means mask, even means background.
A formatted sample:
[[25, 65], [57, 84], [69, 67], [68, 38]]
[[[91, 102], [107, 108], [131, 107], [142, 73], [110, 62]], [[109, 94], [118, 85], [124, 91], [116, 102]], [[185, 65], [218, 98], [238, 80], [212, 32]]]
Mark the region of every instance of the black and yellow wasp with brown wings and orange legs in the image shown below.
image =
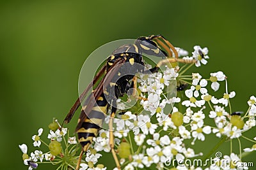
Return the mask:
[[[144, 66], [143, 54], [154, 55], [163, 59], [155, 67], [148, 69], [147, 72], [141, 67], [138, 67], [138, 64]], [[90, 148], [93, 138], [99, 133], [99, 129], [106, 115], [108, 115], [108, 110], [111, 110], [111, 119], [109, 119], [109, 145], [116, 167], [120, 169], [120, 164], [114, 150], [113, 118], [117, 110], [114, 99], [124, 96], [132, 87], [136, 88], [136, 73], [156, 73], [161, 65], [170, 62], [188, 61], [179, 59], [174, 46], [161, 35], [141, 36], [136, 39], [134, 44], [120, 46], [109, 55], [106, 59], [106, 64], [102, 66], [92, 82], [84, 89], [64, 120], [66, 124], [70, 122], [77, 108], [83, 105], [76, 127], [78, 140], [82, 146], [76, 169], [79, 169], [83, 152], [86, 152]], [[129, 74], [125, 74], [127, 70], [129, 70]], [[131, 80], [132, 83], [130, 83]], [[107, 86], [104, 87], [104, 85]], [[84, 104], [81, 104], [81, 101], [85, 99], [93, 86], [96, 86], [93, 92], [87, 96]]]

